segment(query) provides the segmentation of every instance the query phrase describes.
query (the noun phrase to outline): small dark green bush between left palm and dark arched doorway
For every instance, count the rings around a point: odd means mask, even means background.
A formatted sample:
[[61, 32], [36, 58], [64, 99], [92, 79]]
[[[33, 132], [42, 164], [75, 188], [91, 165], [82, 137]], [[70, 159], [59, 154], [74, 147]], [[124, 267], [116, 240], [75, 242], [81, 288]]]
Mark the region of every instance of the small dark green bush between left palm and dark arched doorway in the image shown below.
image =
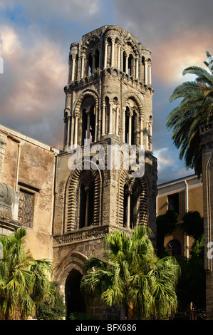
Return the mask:
[[51, 282], [54, 301], [43, 301], [36, 311], [38, 320], [61, 320], [66, 317], [66, 305], [63, 302], [63, 295], [58, 292], [58, 282]]

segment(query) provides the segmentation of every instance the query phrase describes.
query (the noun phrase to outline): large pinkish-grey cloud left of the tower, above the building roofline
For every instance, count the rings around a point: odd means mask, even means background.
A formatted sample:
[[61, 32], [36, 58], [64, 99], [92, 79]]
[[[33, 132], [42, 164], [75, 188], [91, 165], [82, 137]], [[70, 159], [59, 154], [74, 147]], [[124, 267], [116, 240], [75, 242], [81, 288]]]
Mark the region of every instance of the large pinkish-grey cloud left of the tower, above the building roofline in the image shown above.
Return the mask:
[[[58, 127], [58, 121], [63, 120], [66, 63], [56, 45], [45, 37], [26, 50], [16, 32], [4, 27], [1, 41], [4, 58], [4, 75], [0, 77], [1, 122], [3, 119], [6, 124], [16, 124], [16, 130], [41, 141], [50, 140], [54, 129], [43, 130], [53, 123]], [[62, 135], [54, 137], [55, 144], [60, 143]]]

